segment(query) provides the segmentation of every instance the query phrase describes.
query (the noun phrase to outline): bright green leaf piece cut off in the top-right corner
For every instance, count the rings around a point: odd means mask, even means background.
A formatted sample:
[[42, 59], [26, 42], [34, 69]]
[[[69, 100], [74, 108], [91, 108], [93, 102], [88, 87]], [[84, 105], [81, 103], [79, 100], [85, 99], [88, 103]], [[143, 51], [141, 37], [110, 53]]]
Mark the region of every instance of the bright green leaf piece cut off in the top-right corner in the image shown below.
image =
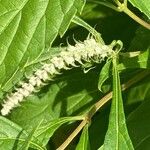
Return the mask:
[[149, 0], [129, 0], [131, 4], [137, 7], [150, 19], [150, 2]]

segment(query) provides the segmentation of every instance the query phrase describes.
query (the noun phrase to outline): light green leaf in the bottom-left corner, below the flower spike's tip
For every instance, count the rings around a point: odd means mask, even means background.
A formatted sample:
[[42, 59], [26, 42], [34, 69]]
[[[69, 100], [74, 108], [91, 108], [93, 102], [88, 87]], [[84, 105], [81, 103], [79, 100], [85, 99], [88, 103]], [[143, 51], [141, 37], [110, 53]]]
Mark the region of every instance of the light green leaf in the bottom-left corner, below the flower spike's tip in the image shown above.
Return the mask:
[[[26, 138], [28, 137], [28, 133], [25, 132], [21, 127], [1, 116], [0, 133], [1, 150], [20, 150], [21, 146], [24, 144]], [[44, 148], [41, 147], [41, 145], [37, 144], [37, 141], [30, 142], [32, 147], [38, 150], [44, 150]]]

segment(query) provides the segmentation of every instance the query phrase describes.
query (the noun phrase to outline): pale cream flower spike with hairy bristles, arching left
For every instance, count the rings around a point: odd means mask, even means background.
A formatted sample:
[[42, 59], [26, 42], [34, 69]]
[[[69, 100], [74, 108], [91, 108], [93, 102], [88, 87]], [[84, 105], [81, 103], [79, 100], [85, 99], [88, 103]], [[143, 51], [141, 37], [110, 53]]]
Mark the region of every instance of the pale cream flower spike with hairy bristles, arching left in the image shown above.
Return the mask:
[[82, 66], [85, 62], [101, 62], [105, 57], [112, 55], [112, 48], [108, 45], [101, 45], [94, 38], [77, 42], [75, 46], [69, 45], [66, 51], [62, 51], [58, 56], [53, 57], [50, 63], [45, 63], [28, 79], [22, 83], [21, 87], [12, 92], [4, 100], [1, 110], [2, 115], [7, 115], [14, 107], [19, 106], [35, 88], [40, 88], [43, 83], [51, 80], [62, 69]]

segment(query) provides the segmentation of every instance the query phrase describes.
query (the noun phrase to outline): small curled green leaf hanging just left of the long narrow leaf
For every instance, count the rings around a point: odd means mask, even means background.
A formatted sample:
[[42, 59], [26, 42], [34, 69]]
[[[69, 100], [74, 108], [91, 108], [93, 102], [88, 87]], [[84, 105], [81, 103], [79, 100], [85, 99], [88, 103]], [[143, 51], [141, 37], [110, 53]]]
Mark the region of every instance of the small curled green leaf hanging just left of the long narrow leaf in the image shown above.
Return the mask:
[[98, 89], [102, 91], [103, 83], [109, 78], [110, 76], [110, 67], [111, 67], [112, 60], [109, 60], [103, 66], [98, 80]]

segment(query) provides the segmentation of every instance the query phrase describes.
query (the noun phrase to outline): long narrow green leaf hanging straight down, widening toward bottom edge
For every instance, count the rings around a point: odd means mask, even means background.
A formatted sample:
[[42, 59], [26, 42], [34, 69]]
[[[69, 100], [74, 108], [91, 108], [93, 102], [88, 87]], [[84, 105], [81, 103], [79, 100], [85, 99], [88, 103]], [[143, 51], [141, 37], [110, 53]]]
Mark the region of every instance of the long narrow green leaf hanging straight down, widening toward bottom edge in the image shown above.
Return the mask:
[[113, 58], [113, 99], [108, 131], [104, 141], [104, 150], [118, 149], [132, 150], [134, 148], [126, 127], [120, 77], [117, 70], [116, 58]]

